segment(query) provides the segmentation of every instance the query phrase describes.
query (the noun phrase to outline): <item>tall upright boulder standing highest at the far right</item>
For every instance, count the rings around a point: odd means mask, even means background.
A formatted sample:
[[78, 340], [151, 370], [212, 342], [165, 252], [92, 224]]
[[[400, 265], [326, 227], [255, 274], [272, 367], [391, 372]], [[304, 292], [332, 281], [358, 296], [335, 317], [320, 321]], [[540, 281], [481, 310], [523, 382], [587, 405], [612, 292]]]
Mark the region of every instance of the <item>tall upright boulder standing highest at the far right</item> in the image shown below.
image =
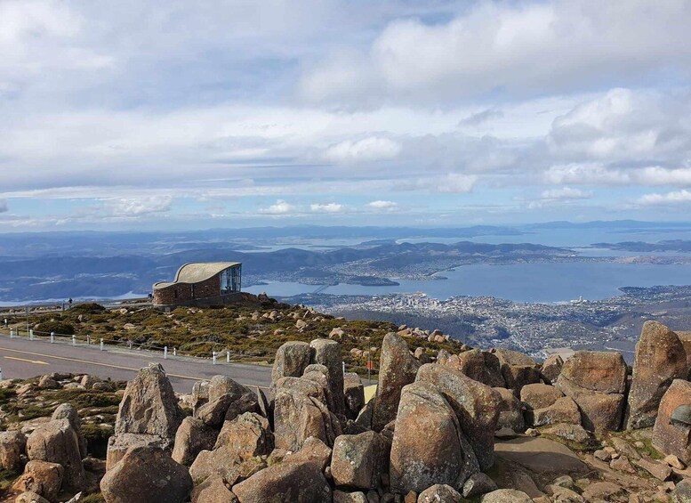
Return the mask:
[[646, 321], [633, 360], [626, 427], [653, 426], [664, 392], [674, 379], [686, 377], [687, 353], [677, 334], [657, 321]]

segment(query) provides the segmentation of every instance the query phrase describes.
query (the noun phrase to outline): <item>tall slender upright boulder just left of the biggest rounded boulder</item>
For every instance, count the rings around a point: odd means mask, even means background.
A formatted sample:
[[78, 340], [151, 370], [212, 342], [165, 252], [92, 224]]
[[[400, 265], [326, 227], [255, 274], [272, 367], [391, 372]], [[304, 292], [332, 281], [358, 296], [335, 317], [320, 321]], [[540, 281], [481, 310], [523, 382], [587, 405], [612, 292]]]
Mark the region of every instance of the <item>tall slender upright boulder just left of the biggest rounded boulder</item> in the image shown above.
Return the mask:
[[403, 338], [391, 332], [384, 336], [379, 362], [379, 385], [372, 415], [372, 429], [381, 431], [396, 418], [403, 386], [415, 380], [420, 366]]

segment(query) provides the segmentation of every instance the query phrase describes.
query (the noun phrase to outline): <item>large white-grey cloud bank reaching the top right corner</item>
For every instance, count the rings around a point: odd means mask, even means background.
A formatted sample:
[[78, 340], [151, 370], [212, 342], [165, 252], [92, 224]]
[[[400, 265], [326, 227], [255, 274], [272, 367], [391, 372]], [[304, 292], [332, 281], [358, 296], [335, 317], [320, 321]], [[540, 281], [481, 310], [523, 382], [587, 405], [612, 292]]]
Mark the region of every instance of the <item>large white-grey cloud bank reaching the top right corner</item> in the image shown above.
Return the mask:
[[691, 47], [679, 40], [690, 16], [685, 1], [618, 0], [605, 8], [588, 0], [480, 2], [447, 22], [392, 20], [366, 49], [334, 53], [307, 69], [301, 89], [350, 103], [374, 93], [381, 101], [438, 101], [685, 72]]

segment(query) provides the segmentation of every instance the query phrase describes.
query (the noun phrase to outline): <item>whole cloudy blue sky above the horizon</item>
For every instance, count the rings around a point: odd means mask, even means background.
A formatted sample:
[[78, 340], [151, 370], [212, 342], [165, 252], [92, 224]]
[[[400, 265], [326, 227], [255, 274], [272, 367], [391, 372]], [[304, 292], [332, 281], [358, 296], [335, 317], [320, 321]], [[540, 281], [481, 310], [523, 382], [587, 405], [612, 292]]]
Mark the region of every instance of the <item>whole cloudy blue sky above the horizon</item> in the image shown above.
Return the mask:
[[691, 218], [691, 0], [0, 0], [0, 232]]

